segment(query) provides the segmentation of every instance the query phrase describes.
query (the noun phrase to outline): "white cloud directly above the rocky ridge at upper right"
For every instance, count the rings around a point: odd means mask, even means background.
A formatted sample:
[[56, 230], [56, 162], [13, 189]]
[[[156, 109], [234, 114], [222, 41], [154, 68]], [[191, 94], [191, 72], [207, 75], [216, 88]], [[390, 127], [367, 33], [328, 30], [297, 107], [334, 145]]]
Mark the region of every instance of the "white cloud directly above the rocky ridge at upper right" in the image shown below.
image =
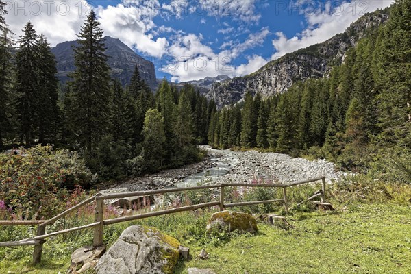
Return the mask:
[[[303, 3], [312, 2], [303, 0]], [[344, 32], [347, 27], [366, 12], [373, 12], [378, 8], [386, 8], [393, 3], [393, 0], [369, 0], [352, 1], [330, 8], [329, 3], [325, 3], [322, 10], [313, 11], [312, 6], [308, 7], [306, 21], [308, 27], [301, 35], [287, 38], [284, 33], [277, 32], [277, 39], [273, 40], [276, 52], [271, 57], [272, 60], [283, 56], [286, 53], [303, 49], [310, 45], [323, 42], [332, 36]]]

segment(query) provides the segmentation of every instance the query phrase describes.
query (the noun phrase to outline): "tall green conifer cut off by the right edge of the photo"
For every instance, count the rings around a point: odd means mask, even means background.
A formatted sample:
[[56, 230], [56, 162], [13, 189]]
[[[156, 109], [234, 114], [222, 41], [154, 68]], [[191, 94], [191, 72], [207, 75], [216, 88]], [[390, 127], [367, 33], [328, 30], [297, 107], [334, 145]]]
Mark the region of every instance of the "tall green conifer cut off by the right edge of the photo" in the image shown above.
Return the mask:
[[411, 147], [411, 1], [397, 0], [375, 53], [381, 145]]

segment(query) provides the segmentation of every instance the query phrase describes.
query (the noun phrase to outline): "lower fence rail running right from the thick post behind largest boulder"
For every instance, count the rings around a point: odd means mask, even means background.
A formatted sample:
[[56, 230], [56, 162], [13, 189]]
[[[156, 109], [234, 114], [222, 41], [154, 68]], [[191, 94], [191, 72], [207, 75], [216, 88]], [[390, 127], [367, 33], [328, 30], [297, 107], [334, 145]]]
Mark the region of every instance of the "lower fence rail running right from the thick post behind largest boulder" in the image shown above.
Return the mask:
[[199, 203], [198, 205], [194, 205], [194, 206], [182, 206], [181, 208], [171, 208], [169, 210], [159, 210], [155, 212], [143, 213], [143, 214], [138, 214], [134, 216], [124, 216], [124, 217], [114, 218], [110, 220], [105, 220], [103, 221], [103, 223], [104, 225], [112, 225], [113, 223], [121, 223], [125, 221], [145, 219], [145, 218], [153, 217], [153, 216], [160, 216], [160, 215], [166, 215], [166, 214], [183, 212], [183, 211], [197, 210], [199, 208], [210, 208], [212, 206], [219, 206], [219, 205], [220, 205], [220, 201], [212, 201], [210, 203]]

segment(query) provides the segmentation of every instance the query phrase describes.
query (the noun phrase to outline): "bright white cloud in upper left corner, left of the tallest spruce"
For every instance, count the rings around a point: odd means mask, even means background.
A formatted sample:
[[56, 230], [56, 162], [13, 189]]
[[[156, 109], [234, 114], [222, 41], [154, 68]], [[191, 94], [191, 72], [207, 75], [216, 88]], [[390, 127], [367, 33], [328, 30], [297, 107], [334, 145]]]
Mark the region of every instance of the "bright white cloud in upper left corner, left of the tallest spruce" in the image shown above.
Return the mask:
[[51, 45], [75, 40], [91, 6], [78, 1], [7, 1], [5, 20], [17, 36], [27, 21], [38, 34], [45, 34]]

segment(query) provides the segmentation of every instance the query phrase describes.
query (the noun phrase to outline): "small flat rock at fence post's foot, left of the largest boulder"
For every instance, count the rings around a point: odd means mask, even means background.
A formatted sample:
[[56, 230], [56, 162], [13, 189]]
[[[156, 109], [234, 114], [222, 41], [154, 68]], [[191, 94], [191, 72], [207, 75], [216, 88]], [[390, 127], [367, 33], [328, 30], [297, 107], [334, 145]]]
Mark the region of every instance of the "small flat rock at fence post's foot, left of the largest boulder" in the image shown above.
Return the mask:
[[85, 273], [89, 269], [93, 269], [104, 252], [105, 245], [96, 248], [81, 247], [76, 249], [73, 254], [71, 254], [71, 265], [67, 274], [80, 274]]

